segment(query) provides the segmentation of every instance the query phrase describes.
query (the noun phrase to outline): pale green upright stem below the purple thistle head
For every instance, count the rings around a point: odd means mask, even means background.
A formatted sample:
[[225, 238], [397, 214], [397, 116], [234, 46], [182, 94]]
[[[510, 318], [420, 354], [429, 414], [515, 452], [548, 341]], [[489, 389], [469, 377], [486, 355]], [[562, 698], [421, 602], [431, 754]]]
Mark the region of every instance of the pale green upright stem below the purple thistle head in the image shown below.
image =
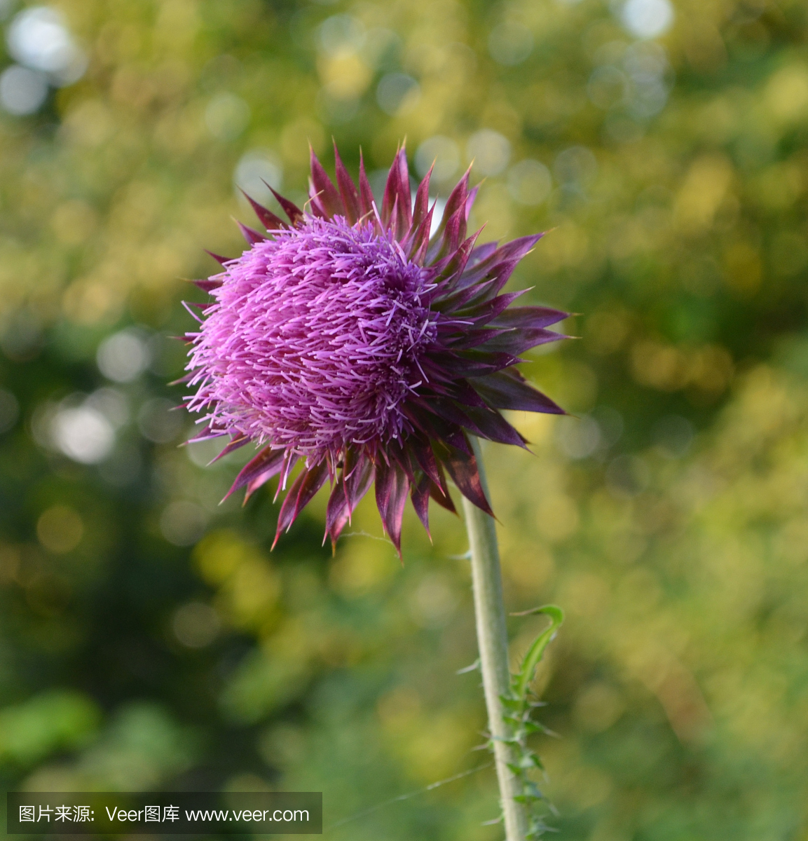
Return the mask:
[[[483, 490], [490, 499], [479, 441], [476, 437], [469, 437], [477, 458]], [[505, 838], [507, 841], [525, 841], [525, 833], [527, 833], [525, 809], [514, 800], [515, 796], [521, 794], [520, 780], [508, 767], [508, 764], [516, 764], [518, 756], [515, 749], [504, 741], [510, 739], [512, 735], [510, 728], [504, 722], [505, 711], [501, 701], [502, 696], [510, 695], [510, 669], [497, 532], [494, 520], [465, 497], [463, 497], [463, 514], [466, 518], [468, 541], [471, 543], [472, 550], [474, 612], [477, 617], [480, 670], [483, 673], [483, 691], [488, 708], [488, 728], [494, 743], [494, 760], [499, 780], [499, 796], [502, 801]]]

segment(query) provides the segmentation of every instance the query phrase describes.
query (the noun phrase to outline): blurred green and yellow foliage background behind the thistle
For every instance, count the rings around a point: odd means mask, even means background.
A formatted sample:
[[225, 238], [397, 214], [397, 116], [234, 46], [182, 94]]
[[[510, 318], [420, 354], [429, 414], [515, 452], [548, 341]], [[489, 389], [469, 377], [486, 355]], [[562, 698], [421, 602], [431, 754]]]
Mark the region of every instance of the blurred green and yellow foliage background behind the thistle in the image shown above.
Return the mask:
[[[488, 447], [560, 841], [808, 838], [804, 0], [0, 0], [0, 780], [323, 791], [325, 825], [485, 754], [462, 523], [224, 505], [180, 447], [182, 278], [240, 186], [304, 201], [332, 135], [406, 136], [580, 336], [528, 377], [577, 417]], [[246, 458], [246, 454], [243, 459]], [[411, 512], [410, 512], [411, 514]], [[541, 628], [514, 618], [513, 653]], [[4, 807], [4, 804], [3, 804]], [[491, 770], [328, 838], [494, 841]]]

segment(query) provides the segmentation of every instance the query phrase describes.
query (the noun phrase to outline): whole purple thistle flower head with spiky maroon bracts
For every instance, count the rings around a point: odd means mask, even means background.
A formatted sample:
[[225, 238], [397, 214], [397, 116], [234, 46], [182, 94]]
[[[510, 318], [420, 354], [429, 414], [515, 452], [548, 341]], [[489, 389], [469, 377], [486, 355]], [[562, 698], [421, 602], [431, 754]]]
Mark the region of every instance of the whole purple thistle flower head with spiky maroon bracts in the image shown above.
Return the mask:
[[491, 513], [469, 434], [524, 446], [499, 410], [562, 414], [515, 364], [562, 338], [547, 327], [567, 314], [510, 307], [525, 290], [501, 290], [541, 234], [477, 246], [479, 231], [466, 236], [477, 194], [468, 172], [430, 237], [431, 170], [413, 202], [401, 149], [379, 210], [362, 162], [357, 189], [336, 148], [335, 160], [336, 187], [312, 152], [307, 212], [275, 193], [288, 223], [247, 197], [269, 235], [240, 225], [250, 247], [196, 282], [214, 302], [198, 305], [199, 329], [186, 335], [186, 406], [206, 424], [193, 441], [230, 436], [218, 458], [261, 446], [228, 495], [249, 498], [276, 475], [280, 492], [303, 463], [275, 542], [326, 481], [325, 536], [336, 542], [375, 481], [400, 553], [407, 495], [427, 530], [430, 498], [455, 510], [446, 473]]

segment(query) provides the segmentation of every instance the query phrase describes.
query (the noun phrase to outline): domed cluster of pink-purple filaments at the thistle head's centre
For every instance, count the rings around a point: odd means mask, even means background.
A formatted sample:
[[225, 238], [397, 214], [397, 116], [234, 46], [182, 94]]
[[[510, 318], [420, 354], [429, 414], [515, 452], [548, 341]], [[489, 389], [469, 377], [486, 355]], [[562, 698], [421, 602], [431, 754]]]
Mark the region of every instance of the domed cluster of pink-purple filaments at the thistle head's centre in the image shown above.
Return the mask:
[[433, 274], [392, 234], [340, 216], [274, 232], [219, 276], [193, 334], [188, 409], [312, 461], [400, 438], [436, 340]]

